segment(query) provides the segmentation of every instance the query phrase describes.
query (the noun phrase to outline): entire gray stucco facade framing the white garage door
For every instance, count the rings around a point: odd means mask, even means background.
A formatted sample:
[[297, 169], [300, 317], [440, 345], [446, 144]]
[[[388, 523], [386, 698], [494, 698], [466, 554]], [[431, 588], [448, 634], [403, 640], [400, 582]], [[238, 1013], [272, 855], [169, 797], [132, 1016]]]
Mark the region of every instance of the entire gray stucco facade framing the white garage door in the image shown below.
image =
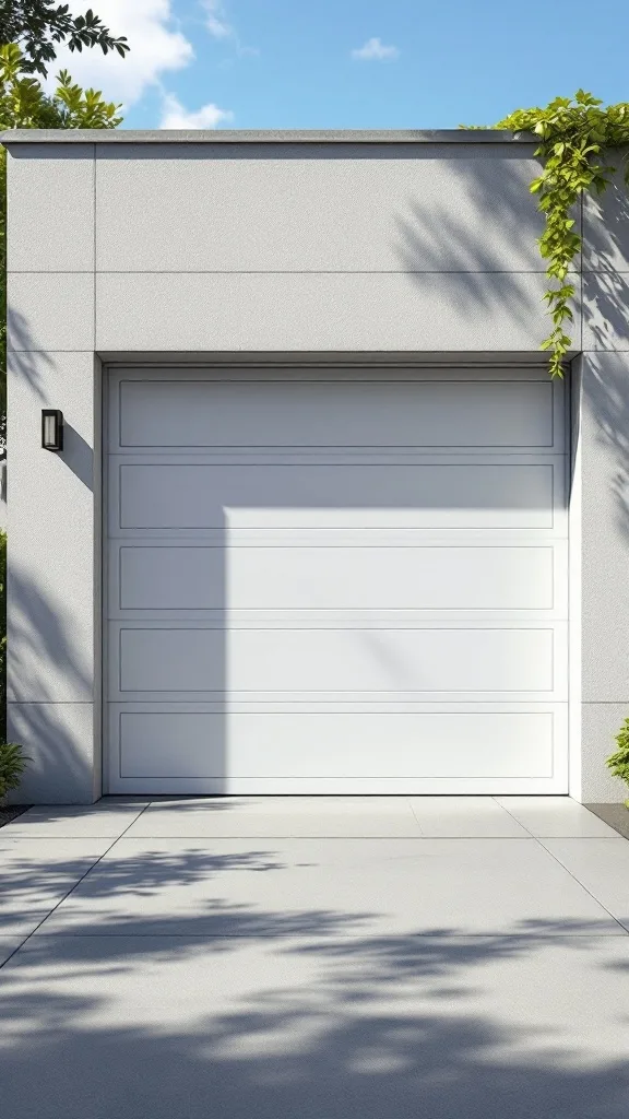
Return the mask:
[[[469, 133], [34, 139], [9, 143], [8, 161], [10, 725], [36, 753], [22, 796], [88, 801], [100, 789], [95, 355], [537, 356], [536, 163], [532, 143]], [[573, 792], [586, 801], [619, 799], [602, 759], [629, 713], [629, 239], [610, 233], [621, 197], [585, 211], [574, 332], [584, 751]], [[40, 450], [44, 406], [64, 411], [62, 455]], [[573, 664], [576, 695], [580, 677]]]

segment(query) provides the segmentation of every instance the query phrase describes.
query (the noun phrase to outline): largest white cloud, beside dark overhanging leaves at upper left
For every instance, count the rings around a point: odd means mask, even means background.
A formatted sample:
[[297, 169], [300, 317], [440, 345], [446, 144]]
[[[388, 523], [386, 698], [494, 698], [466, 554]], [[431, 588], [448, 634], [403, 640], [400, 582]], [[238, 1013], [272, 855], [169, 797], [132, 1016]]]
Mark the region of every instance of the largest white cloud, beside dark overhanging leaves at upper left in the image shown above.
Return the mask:
[[[84, 7], [72, 6], [77, 12]], [[107, 101], [134, 104], [163, 73], [193, 62], [193, 45], [179, 30], [172, 7], [171, 0], [98, 0], [96, 12], [113, 36], [126, 36], [129, 54], [121, 58], [115, 51], [103, 55], [100, 47], [81, 54], [59, 47], [49, 67], [48, 90], [56, 84], [55, 75], [68, 69], [79, 85], [102, 90]]]

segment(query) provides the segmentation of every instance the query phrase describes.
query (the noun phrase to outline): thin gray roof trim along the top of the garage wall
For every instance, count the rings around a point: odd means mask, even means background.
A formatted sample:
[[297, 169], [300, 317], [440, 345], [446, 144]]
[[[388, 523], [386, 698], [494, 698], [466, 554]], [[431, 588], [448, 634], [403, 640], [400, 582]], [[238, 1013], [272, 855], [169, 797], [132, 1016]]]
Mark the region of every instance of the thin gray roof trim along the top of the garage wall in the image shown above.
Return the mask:
[[526, 132], [498, 129], [319, 130], [248, 129], [151, 131], [135, 129], [10, 129], [0, 142], [13, 143], [533, 143]]

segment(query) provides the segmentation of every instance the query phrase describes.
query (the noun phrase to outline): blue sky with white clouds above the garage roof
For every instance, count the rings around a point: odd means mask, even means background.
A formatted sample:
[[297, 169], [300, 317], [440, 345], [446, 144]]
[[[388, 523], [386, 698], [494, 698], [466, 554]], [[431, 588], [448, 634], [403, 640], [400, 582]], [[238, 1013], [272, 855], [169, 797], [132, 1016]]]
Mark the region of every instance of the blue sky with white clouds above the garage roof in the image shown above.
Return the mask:
[[[72, 3], [83, 11], [85, 3]], [[132, 51], [66, 54], [125, 128], [456, 128], [579, 86], [629, 100], [627, 0], [93, 0]]]

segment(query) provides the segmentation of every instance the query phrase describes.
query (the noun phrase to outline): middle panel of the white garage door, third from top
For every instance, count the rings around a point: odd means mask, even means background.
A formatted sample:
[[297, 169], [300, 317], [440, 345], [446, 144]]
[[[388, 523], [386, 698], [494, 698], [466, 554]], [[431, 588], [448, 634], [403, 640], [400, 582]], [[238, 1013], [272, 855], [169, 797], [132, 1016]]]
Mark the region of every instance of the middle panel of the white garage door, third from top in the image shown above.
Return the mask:
[[122, 546], [126, 610], [553, 609], [554, 549]]

